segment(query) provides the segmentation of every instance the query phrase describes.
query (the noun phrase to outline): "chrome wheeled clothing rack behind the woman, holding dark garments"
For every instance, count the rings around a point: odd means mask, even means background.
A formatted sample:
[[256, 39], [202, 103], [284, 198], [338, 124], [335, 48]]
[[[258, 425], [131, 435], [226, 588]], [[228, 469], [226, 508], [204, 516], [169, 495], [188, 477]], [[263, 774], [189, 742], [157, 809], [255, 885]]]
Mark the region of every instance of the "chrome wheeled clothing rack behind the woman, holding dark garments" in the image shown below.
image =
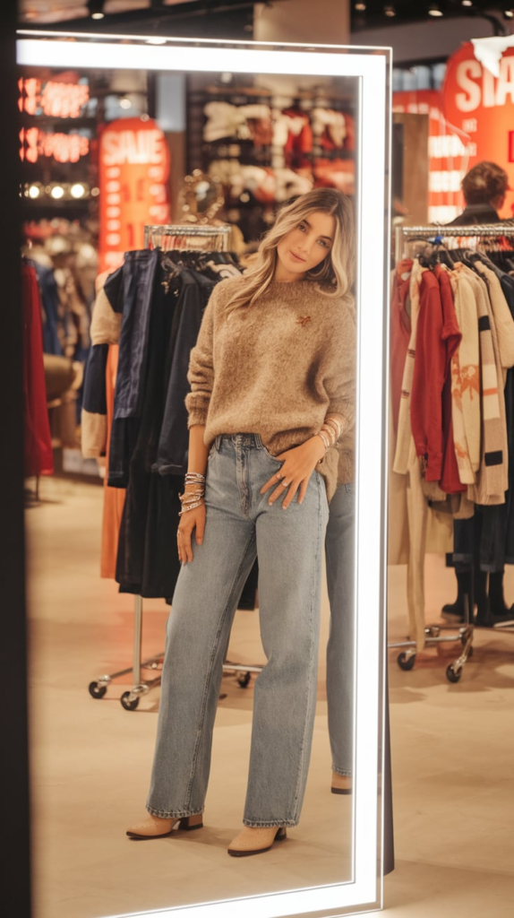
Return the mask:
[[[232, 229], [230, 226], [205, 226], [194, 224], [164, 224], [162, 226], [145, 227], [145, 248], [162, 249], [164, 252], [183, 251], [183, 252], [227, 252], [228, 239]], [[209, 247], [191, 245], [192, 240], [204, 239], [211, 244]], [[183, 244], [180, 244], [182, 241]], [[136, 596], [134, 598], [134, 649], [132, 666], [122, 669], [117, 673], [99, 676], [90, 683], [89, 692], [93, 698], [104, 698], [104, 694], [115, 678], [126, 676], [128, 673], [133, 674], [132, 689], [125, 691], [120, 698], [122, 706], [126, 711], [135, 711], [139, 700], [146, 695], [150, 689], [156, 689], [160, 685], [160, 676], [155, 673], [162, 669], [164, 652], [148, 660], [141, 660], [143, 643], [143, 598]], [[148, 670], [154, 674], [153, 678], [143, 678], [143, 671]], [[231, 663], [228, 660], [224, 662], [224, 673], [234, 673], [237, 682], [242, 689], [246, 689], [251, 674], [259, 673], [262, 666], [247, 666], [246, 664]]]

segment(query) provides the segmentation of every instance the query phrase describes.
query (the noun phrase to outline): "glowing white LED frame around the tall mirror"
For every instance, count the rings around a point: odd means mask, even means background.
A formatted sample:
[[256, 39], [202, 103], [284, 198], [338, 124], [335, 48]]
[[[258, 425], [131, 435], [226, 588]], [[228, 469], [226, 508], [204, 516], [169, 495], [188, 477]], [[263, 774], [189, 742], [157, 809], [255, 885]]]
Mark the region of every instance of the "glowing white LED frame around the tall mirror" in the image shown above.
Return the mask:
[[223, 913], [224, 918], [239, 918], [244, 909], [248, 918], [278, 918], [307, 912], [341, 915], [379, 909], [383, 807], [377, 776], [383, 773], [385, 697], [390, 49], [173, 38], [156, 46], [152, 39], [142, 36], [21, 30], [17, 62], [52, 68], [230, 71], [359, 79], [353, 878], [340, 884], [225, 900], [223, 906], [220, 901], [211, 901], [139, 914], [214, 918]]

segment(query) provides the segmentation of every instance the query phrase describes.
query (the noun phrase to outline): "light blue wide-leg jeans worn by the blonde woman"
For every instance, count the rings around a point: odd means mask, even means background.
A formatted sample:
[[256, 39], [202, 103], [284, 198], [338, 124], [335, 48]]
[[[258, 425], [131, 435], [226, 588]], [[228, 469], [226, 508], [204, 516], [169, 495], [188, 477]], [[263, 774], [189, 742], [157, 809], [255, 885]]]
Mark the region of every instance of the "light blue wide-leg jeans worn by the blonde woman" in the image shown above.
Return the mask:
[[173, 596], [162, 671], [148, 812], [202, 812], [213, 723], [235, 605], [256, 556], [266, 666], [254, 694], [243, 822], [296, 825], [311, 756], [316, 706], [321, 569], [328, 505], [312, 473], [302, 504], [287, 510], [259, 493], [280, 463], [257, 434], [217, 437], [209, 454], [202, 545]]

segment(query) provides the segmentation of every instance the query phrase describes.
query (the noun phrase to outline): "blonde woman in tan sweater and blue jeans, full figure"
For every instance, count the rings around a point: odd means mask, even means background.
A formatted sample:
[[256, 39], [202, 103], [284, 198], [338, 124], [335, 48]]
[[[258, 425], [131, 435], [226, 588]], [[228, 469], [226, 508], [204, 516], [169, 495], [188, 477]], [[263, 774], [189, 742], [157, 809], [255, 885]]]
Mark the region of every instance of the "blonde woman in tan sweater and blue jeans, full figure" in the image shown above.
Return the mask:
[[189, 380], [182, 569], [147, 810], [129, 835], [200, 828], [235, 604], [256, 556], [268, 663], [257, 677], [244, 829], [266, 851], [299, 822], [312, 744], [320, 582], [338, 450], [355, 413], [355, 230], [332, 189], [280, 211], [247, 274], [218, 284]]

